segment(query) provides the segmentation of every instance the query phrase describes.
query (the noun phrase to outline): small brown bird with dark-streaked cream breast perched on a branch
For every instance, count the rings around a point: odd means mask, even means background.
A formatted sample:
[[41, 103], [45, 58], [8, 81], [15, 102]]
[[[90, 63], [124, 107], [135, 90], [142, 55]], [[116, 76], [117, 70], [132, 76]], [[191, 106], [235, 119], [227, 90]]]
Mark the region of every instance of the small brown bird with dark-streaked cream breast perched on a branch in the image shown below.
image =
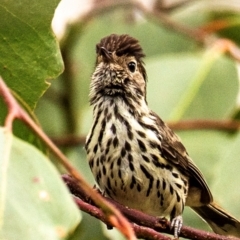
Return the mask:
[[94, 120], [85, 148], [100, 188], [123, 205], [170, 217], [175, 237], [185, 205], [216, 233], [240, 237], [240, 222], [214, 204], [179, 137], [149, 109], [139, 42], [112, 34], [96, 52], [90, 86]]

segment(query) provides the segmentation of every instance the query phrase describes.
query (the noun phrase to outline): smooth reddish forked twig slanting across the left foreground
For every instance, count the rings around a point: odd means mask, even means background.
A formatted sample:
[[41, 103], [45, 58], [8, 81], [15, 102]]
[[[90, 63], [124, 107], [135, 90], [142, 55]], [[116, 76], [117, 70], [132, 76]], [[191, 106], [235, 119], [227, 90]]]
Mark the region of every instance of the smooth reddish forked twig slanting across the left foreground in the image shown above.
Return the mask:
[[24, 109], [17, 103], [11, 95], [10, 90], [0, 77], [0, 94], [3, 96], [4, 101], [8, 107], [8, 115], [5, 121], [5, 127], [12, 130], [12, 124], [15, 118], [21, 119], [33, 132], [46, 144], [46, 146], [57, 157], [59, 162], [65, 169], [74, 177], [76, 183], [83, 189], [85, 193], [90, 194], [89, 198], [99, 206], [104, 212], [109, 221], [117, 227], [127, 239], [135, 240], [134, 232], [129, 222], [122, 216], [122, 214], [113, 207], [112, 204], [107, 202], [100, 194], [94, 191], [91, 186], [83, 179], [78, 171], [69, 162], [67, 157], [56, 147], [50, 138], [42, 131], [42, 129], [29, 117]]

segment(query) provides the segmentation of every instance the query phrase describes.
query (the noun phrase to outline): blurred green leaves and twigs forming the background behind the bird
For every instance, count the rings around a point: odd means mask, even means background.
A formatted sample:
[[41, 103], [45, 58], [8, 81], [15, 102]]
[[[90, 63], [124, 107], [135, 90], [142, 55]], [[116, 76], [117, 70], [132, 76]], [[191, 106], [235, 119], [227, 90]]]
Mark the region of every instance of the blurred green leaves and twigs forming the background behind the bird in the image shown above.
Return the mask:
[[[234, 0], [76, 2], [63, 0], [53, 21], [65, 70], [50, 82], [42, 97], [38, 95], [34, 113], [44, 131], [88, 182], [94, 184], [83, 146], [92, 122], [88, 94], [95, 46], [106, 35], [130, 34], [140, 41], [146, 54], [150, 108], [181, 137], [216, 201], [240, 219], [240, 133], [232, 128], [240, 116], [237, 61], [240, 50], [236, 48], [234, 54], [229, 54], [227, 42], [221, 40], [227, 38], [240, 45], [240, 3]], [[42, 87], [41, 92], [44, 91]], [[26, 102], [30, 108], [34, 105]], [[178, 124], [183, 120], [189, 122], [184, 129]], [[211, 123], [212, 127], [204, 129], [198, 125], [199, 120], [207, 120], [206, 124]], [[194, 129], [190, 123], [195, 123]], [[30, 133], [22, 131], [22, 126], [16, 126], [15, 134], [32, 142]], [[43, 150], [36, 139], [34, 143]], [[61, 167], [56, 162], [55, 165], [61, 172]], [[185, 208], [184, 224], [209, 230], [189, 208]], [[122, 237], [83, 213], [81, 223], [68, 239]]]

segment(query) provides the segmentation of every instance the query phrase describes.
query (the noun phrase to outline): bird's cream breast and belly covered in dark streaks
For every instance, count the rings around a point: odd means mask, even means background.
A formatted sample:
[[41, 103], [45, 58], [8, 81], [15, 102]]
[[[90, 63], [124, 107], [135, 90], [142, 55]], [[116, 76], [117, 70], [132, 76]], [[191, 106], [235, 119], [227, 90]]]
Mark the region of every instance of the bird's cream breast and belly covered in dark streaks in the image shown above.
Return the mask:
[[186, 192], [178, 171], [161, 157], [161, 141], [146, 127], [150, 124], [151, 119], [137, 120], [124, 112], [111, 118], [100, 116], [87, 138], [87, 158], [108, 196], [146, 213], [166, 216], [177, 202], [183, 204]]

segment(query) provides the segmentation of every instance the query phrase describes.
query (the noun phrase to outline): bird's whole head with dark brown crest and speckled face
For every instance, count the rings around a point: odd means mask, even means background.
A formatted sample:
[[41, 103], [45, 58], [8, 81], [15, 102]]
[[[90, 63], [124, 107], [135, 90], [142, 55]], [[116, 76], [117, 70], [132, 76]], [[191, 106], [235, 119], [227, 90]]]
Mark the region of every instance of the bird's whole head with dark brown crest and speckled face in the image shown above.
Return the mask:
[[146, 98], [146, 71], [139, 42], [129, 35], [112, 34], [96, 46], [90, 101], [101, 97], [139, 101]]

